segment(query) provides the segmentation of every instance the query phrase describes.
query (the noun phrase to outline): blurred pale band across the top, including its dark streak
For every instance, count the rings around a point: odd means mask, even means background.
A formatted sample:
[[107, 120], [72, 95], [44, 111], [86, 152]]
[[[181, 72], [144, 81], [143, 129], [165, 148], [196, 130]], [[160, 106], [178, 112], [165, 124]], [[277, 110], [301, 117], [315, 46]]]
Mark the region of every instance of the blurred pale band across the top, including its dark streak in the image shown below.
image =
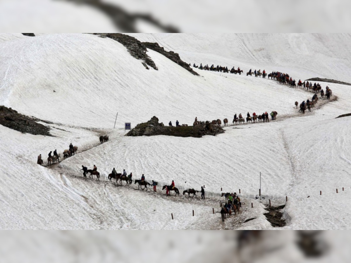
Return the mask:
[[2, 0], [0, 25], [2, 32], [42, 33], [349, 32], [350, 5], [346, 0], [279, 5], [274, 0]]

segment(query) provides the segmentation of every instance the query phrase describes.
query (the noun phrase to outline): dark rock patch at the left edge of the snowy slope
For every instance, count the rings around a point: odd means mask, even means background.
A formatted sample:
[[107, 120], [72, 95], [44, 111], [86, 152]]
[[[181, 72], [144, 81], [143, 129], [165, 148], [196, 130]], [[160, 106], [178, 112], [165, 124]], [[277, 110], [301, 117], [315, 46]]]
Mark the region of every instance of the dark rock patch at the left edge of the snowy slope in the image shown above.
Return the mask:
[[18, 130], [21, 133], [30, 133], [34, 135], [52, 136], [49, 133], [50, 128], [37, 123], [38, 119], [19, 114], [12, 108], [0, 106], [0, 124], [10, 129]]

